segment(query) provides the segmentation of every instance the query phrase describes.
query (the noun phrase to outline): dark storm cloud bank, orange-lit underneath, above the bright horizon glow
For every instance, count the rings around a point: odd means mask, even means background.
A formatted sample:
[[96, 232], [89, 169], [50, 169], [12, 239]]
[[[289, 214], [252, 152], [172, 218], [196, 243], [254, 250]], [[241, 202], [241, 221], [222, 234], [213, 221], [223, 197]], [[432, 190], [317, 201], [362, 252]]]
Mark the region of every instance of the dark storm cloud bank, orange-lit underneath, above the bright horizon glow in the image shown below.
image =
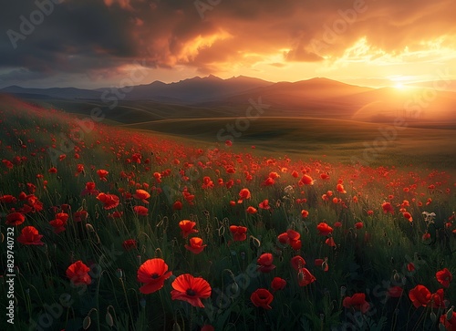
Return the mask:
[[90, 75], [109, 68], [114, 73], [146, 58], [148, 67], [210, 73], [277, 54], [284, 63], [336, 59], [361, 37], [390, 54], [405, 47], [420, 50], [439, 37], [441, 45], [455, 47], [451, 0], [53, 1], [58, 2], [37, 1], [54, 9], [32, 33], [22, 34], [24, 40], [16, 40], [16, 49], [7, 32], [21, 33], [20, 16], [32, 19], [37, 5], [25, 0], [3, 5], [0, 69], [26, 68], [24, 78]]

